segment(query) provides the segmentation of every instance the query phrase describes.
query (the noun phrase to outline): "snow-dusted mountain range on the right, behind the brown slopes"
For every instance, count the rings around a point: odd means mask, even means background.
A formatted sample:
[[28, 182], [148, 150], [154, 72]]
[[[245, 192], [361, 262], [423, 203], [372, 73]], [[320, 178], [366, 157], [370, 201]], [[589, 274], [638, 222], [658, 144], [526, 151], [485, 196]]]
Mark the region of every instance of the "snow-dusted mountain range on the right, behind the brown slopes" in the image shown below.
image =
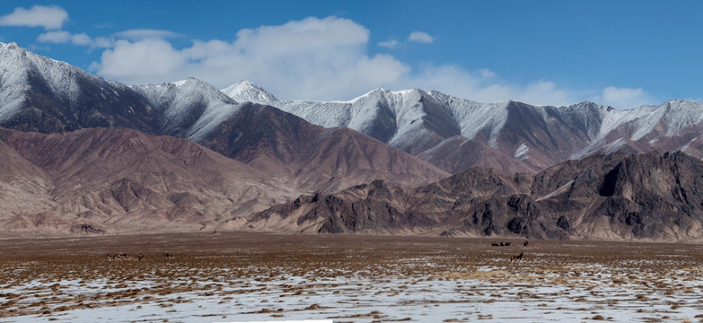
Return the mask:
[[[703, 103], [691, 100], [620, 110], [588, 101], [561, 107], [479, 103], [437, 91], [377, 89], [347, 101], [259, 102], [322, 127], [352, 128], [453, 173], [477, 164], [533, 172], [622, 149], [682, 150], [701, 157], [703, 146]], [[445, 159], [447, 153], [459, 158], [477, 152], [514, 161], [467, 165]]]

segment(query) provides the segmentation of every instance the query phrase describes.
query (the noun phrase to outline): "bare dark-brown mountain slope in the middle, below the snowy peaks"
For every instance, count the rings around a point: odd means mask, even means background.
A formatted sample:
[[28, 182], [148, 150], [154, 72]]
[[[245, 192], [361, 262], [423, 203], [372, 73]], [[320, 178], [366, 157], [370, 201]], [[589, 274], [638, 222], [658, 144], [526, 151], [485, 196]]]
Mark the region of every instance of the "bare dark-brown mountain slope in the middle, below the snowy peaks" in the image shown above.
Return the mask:
[[254, 103], [242, 104], [199, 143], [310, 192], [335, 192], [373, 179], [413, 188], [449, 176], [368, 135], [314, 126]]

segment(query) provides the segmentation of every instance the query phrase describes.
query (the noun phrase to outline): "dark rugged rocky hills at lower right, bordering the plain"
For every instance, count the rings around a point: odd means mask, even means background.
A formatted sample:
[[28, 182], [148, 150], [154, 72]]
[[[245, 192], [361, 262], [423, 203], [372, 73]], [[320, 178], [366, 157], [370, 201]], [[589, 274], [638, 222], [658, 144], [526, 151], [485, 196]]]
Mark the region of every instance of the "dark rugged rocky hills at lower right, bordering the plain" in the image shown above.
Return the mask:
[[703, 162], [685, 153], [596, 154], [538, 173], [473, 169], [416, 188], [382, 181], [300, 196], [248, 218], [254, 230], [699, 240]]

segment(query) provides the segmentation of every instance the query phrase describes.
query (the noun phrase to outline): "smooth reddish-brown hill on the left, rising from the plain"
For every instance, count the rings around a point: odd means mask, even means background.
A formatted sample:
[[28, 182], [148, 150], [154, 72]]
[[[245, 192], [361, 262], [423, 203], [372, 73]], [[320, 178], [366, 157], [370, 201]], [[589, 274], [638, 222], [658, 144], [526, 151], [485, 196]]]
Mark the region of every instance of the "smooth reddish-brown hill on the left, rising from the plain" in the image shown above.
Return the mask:
[[0, 149], [12, 157], [0, 165], [14, 170], [0, 185], [35, 194], [25, 197], [28, 208], [2, 195], [4, 231], [194, 231], [294, 196], [283, 183], [198, 144], [129, 129], [2, 129]]

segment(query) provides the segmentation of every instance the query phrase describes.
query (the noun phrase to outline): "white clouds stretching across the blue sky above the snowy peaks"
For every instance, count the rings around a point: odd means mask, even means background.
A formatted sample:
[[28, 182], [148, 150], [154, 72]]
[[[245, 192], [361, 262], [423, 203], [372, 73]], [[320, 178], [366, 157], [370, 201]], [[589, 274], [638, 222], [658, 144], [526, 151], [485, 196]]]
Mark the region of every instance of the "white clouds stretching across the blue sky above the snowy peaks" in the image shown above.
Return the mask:
[[[400, 41], [370, 44], [365, 26], [346, 18], [308, 17], [280, 25], [233, 32], [233, 39], [190, 39], [174, 31], [135, 29], [91, 37], [64, 31], [68, 13], [58, 6], [16, 8], [0, 17], [1, 25], [44, 27], [37, 42], [72, 44], [102, 50], [91, 72], [128, 84], [159, 84], [197, 77], [224, 88], [239, 80], [259, 83], [280, 99], [351, 99], [370, 88], [434, 89], [482, 102], [521, 100], [564, 105], [593, 100], [631, 109], [659, 100], [643, 89], [608, 86], [572, 89], [550, 80], [516, 83], [490, 69], [427, 61], [411, 65], [392, 55]], [[425, 31], [410, 31], [404, 46], [438, 41]], [[377, 48], [372, 48], [377, 46]], [[372, 49], [381, 49], [372, 54]]]

